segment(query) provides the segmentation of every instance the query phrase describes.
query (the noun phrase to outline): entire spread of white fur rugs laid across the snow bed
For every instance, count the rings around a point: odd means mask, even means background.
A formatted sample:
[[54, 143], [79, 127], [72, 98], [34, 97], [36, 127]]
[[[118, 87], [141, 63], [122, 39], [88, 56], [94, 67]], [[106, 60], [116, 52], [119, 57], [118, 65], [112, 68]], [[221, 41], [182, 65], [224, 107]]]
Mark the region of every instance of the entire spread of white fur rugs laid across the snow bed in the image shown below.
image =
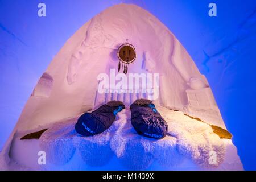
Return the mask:
[[[209, 125], [180, 111], [156, 109], [168, 123], [169, 135], [160, 140], [138, 135], [130, 122], [130, 109], [123, 109], [108, 130], [93, 137], [76, 133], [77, 118], [46, 126], [48, 130], [40, 137], [40, 146], [54, 164], [67, 163], [75, 150], [89, 166], [103, 166], [114, 154], [123, 165], [137, 170], [147, 169], [154, 161], [175, 166], [183, 162], [184, 156], [205, 169], [221, 164], [226, 146]], [[213, 156], [215, 159], [211, 159]]]

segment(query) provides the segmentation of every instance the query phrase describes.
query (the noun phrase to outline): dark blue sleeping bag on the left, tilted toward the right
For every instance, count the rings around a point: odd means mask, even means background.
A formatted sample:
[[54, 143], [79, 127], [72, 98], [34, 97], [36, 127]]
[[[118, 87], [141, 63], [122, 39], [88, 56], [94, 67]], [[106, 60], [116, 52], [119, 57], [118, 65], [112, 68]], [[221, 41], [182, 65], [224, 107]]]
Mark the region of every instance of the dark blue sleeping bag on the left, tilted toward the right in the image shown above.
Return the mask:
[[119, 111], [125, 109], [121, 101], [109, 101], [92, 113], [82, 114], [77, 120], [75, 129], [84, 136], [93, 136], [108, 129]]

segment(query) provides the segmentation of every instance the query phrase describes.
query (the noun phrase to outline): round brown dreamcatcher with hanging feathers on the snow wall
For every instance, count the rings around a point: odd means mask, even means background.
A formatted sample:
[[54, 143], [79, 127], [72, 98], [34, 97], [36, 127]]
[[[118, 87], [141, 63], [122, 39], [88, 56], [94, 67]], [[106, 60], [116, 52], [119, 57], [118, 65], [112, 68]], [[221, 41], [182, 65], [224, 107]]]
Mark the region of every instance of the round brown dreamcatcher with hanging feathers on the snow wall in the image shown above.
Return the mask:
[[120, 71], [122, 64], [123, 73], [126, 74], [128, 72], [128, 64], [133, 63], [136, 59], [135, 48], [132, 44], [128, 43], [128, 39], [126, 40], [125, 44], [122, 44], [118, 48], [117, 56], [119, 59], [118, 72]]

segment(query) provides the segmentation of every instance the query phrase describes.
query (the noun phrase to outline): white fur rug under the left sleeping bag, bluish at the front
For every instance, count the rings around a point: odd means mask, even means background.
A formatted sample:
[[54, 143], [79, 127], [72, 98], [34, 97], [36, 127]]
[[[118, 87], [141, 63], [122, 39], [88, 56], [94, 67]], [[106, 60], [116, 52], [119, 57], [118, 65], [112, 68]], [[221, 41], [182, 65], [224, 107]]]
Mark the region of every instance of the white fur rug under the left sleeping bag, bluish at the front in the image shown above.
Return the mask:
[[75, 131], [78, 117], [53, 123], [40, 137], [39, 144], [46, 151], [47, 159], [53, 164], [65, 164], [71, 160], [75, 150], [86, 164], [92, 167], [103, 166], [114, 155], [110, 149], [110, 138], [115, 133], [112, 125], [105, 132], [93, 137], [83, 137]]

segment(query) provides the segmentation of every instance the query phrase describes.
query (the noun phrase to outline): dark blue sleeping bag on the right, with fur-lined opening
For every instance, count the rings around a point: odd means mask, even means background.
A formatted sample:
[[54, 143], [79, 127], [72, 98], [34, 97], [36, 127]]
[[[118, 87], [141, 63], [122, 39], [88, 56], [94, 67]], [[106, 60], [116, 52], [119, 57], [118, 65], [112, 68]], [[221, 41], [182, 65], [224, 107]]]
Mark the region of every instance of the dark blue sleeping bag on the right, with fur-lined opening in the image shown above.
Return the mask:
[[131, 124], [138, 134], [160, 139], [166, 136], [168, 125], [150, 100], [136, 100], [131, 106]]

